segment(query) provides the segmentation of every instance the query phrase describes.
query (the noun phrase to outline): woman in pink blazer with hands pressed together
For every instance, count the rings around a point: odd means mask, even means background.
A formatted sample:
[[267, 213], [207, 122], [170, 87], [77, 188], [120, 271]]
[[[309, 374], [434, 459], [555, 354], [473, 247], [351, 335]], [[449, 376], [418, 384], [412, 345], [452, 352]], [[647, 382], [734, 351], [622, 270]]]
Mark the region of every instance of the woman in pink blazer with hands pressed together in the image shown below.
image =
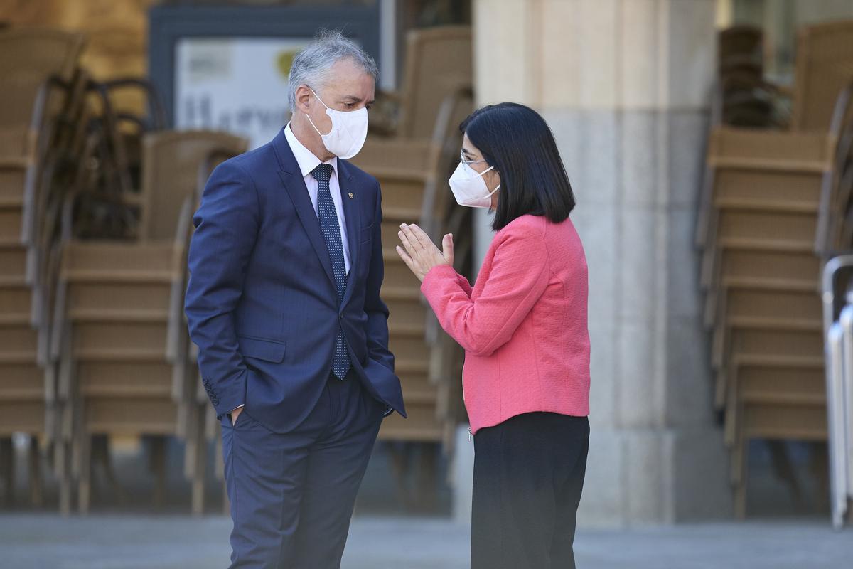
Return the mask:
[[461, 125], [450, 189], [495, 212], [472, 287], [416, 225], [397, 253], [421, 279], [444, 330], [465, 348], [474, 438], [472, 569], [574, 567], [589, 448], [587, 264], [569, 213], [572, 187], [548, 125], [502, 103]]

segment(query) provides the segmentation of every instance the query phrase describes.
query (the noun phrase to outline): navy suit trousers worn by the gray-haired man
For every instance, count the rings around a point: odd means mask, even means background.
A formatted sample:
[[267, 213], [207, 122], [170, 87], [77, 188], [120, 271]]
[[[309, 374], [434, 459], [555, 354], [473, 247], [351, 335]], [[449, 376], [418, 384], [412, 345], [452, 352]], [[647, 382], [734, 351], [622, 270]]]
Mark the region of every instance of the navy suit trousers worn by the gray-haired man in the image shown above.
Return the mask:
[[338, 569], [385, 405], [351, 371], [330, 378], [299, 427], [273, 433], [244, 409], [222, 418], [231, 567]]

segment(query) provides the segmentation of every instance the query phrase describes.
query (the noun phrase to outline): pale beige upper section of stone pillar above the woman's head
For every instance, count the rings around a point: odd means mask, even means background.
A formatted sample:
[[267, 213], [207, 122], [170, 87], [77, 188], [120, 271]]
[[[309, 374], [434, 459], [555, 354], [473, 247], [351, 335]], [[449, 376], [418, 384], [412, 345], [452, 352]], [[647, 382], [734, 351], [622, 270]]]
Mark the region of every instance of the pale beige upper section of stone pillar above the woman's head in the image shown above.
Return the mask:
[[[481, 102], [549, 108], [702, 107], [715, 3], [480, 0], [474, 3]], [[710, 20], [709, 20], [710, 18]]]

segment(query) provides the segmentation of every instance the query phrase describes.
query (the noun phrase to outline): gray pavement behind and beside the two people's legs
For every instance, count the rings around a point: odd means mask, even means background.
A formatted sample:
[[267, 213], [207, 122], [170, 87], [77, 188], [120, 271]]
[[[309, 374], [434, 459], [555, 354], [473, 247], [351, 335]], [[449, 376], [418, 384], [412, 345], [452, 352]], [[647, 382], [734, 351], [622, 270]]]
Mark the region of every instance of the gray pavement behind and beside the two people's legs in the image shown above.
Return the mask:
[[[0, 515], [3, 569], [211, 569], [227, 566], [222, 516]], [[342, 569], [463, 569], [469, 531], [443, 518], [357, 516]], [[853, 530], [826, 520], [583, 530], [582, 569], [830, 569], [853, 566]]]

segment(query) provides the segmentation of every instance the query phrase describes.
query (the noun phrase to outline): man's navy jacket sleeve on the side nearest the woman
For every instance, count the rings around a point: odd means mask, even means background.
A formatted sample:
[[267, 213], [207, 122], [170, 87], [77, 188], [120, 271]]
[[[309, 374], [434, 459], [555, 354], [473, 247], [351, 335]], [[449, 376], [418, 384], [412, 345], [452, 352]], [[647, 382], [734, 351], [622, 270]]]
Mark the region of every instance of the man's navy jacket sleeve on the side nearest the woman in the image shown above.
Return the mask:
[[367, 288], [364, 295], [364, 313], [368, 316], [368, 357], [394, 371], [394, 355], [388, 350], [388, 307], [380, 299], [380, 289], [385, 278], [382, 259], [382, 194], [376, 183], [373, 251], [370, 254]]

